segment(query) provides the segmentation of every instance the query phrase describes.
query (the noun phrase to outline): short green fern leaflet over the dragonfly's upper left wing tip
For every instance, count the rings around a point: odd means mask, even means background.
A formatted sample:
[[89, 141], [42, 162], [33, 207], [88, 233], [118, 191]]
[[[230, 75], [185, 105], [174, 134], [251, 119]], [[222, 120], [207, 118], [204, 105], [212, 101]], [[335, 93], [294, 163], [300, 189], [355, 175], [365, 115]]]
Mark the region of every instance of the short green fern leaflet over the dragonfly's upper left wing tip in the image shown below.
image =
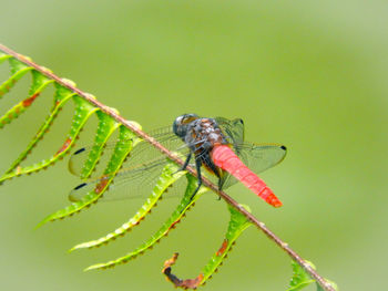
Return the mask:
[[108, 138], [120, 125], [111, 116], [106, 115], [103, 112], [98, 112], [96, 115], [100, 119], [100, 123], [96, 129], [92, 150], [89, 153], [89, 157], [83, 165], [81, 179], [89, 178], [89, 176], [93, 173], [93, 169], [95, 168], [103, 153]]

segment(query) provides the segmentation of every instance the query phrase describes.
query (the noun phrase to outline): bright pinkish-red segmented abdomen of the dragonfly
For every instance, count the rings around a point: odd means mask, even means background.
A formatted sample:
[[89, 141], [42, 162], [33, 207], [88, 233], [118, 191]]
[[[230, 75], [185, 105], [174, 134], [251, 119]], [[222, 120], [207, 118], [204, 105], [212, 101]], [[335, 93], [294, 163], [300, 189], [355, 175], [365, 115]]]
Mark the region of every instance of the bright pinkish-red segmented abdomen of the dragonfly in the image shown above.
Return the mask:
[[217, 167], [233, 175], [267, 204], [270, 204], [274, 207], [282, 206], [280, 200], [277, 199], [267, 185], [265, 185], [255, 173], [245, 166], [227, 145], [215, 146], [212, 150], [212, 159]]

